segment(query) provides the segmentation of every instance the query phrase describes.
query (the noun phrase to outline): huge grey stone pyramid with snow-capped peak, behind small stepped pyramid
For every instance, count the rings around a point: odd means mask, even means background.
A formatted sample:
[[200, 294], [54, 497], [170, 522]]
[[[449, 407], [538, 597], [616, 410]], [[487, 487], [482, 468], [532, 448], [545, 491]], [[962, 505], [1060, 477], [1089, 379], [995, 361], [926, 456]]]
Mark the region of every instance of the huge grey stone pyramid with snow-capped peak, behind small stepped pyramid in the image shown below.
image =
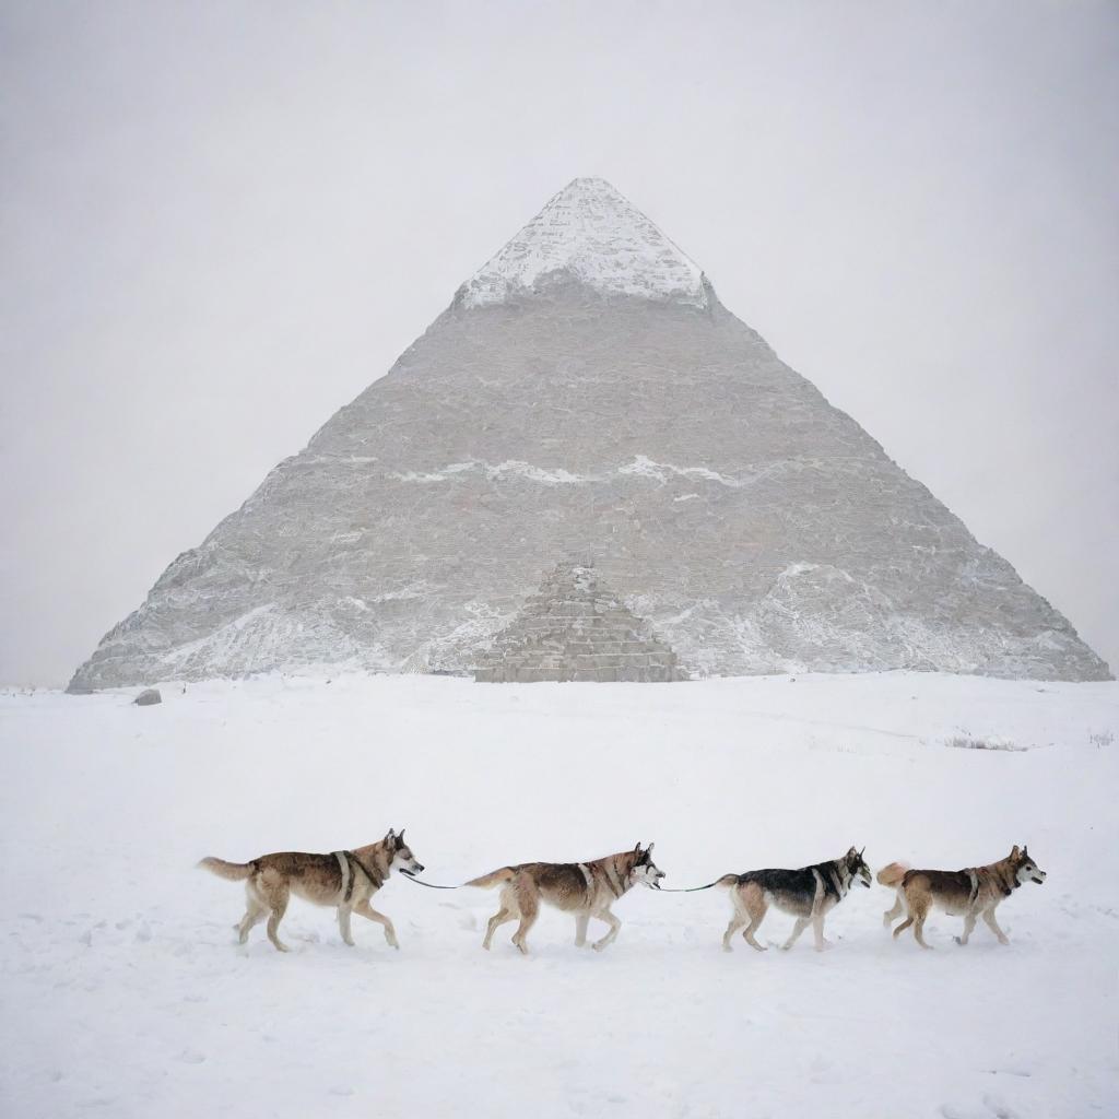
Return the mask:
[[692, 675], [1108, 677], [648, 218], [576, 179], [70, 687], [466, 673], [570, 555]]

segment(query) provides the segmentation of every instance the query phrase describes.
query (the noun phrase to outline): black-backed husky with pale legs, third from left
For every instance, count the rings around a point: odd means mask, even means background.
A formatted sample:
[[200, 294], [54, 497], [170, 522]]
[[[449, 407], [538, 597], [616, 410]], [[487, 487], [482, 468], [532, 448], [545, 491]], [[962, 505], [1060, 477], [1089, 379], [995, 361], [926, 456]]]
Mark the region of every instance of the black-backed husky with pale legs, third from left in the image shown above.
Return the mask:
[[742, 935], [746, 943], [759, 952], [764, 952], [765, 946], [758, 943], [754, 933], [765, 920], [770, 905], [775, 905], [782, 913], [791, 913], [797, 919], [792, 934], [781, 946], [783, 949], [792, 948], [811, 922], [816, 950], [824, 951], [830, 943], [824, 939], [825, 915], [847, 896], [847, 891], [856, 878], [867, 888], [871, 887], [871, 868], [863, 861], [863, 850], [852, 847], [843, 858], [805, 866], [799, 871], [724, 874], [715, 885], [730, 888], [734, 916], [723, 933], [723, 951], [731, 951], [732, 938], [745, 925], [746, 930]]

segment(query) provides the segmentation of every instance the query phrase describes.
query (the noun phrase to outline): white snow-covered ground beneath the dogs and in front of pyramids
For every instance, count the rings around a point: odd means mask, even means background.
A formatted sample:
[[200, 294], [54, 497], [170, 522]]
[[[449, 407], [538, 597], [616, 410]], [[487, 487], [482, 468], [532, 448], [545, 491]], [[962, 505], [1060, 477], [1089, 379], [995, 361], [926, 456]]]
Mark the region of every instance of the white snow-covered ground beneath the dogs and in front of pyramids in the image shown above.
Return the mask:
[[[1062, 1117], [1119, 1111], [1119, 685], [881, 675], [485, 686], [266, 678], [0, 696], [0, 1113]], [[949, 745], [972, 740], [1016, 749]], [[523, 959], [495, 896], [394, 877], [401, 951], [293, 902], [281, 956], [234, 943], [207, 854], [331, 850], [407, 828], [426, 877], [656, 840], [666, 885], [866, 844], [956, 868], [1026, 841], [1049, 872], [1010, 946], [857, 890], [836, 941], [720, 950], [721, 891], [638, 888], [577, 950]], [[762, 930], [783, 939], [790, 919]], [[593, 925], [592, 925], [593, 929]]]

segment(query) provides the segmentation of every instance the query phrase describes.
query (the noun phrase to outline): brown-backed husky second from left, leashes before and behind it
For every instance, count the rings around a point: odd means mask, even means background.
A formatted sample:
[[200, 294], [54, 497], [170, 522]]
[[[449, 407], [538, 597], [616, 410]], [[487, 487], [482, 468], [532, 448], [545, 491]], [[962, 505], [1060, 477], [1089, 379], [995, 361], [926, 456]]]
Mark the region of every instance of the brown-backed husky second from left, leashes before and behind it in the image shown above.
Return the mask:
[[639, 843], [632, 850], [596, 858], [593, 863], [521, 863], [504, 866], [492, 874], [472, 878], [468, 886], [482, 890], [501, 887], [497, 913], [489, 920], [482, 948], [489, 950], [493, 933], [507, 921], [520, 921], [513, 934], [513, 942], [521, 953], [528, 955], [525, 938], [536, 923], [540, 902], [547, 902], [566, 913], [575, 914], [575, 944], [586, 943], [586, 924], [592, 916], [605, 921], [610, 931], [591, 947], [601, 951], [611, 943], [622, 927], [610, 912], [622, 894], [639, 882], [653, 890], [665, 876], [652, 862], [652, 844], [641, 850]]

